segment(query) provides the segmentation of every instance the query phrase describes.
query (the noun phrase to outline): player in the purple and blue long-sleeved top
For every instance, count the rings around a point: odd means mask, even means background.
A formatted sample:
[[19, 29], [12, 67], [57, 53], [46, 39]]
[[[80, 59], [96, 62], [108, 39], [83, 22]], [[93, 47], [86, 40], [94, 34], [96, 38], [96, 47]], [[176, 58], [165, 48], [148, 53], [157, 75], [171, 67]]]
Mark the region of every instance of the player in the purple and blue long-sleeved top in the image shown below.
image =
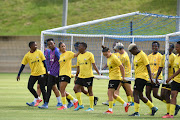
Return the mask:
[[[57, 47], [55, 47], [54, 40], [52, 38], [47, 39], [48, 47], [50, 48], [50, 64], [49, 64], [49, 75], [48, 75], [48, 83], [47, 83], [47, 98], [45, 103], [42, 106], [39, 106], [39, 108], [47, 109], [49, 99], [51, 97], [51, 90], [53, 88], [55, 95], [58, 100], [57, 106], [62, 106], [59, 91], [57, 87], [59, 88], [59, 56], [60, 52]], [[55, 86], [57, 84], [57, 87]]]

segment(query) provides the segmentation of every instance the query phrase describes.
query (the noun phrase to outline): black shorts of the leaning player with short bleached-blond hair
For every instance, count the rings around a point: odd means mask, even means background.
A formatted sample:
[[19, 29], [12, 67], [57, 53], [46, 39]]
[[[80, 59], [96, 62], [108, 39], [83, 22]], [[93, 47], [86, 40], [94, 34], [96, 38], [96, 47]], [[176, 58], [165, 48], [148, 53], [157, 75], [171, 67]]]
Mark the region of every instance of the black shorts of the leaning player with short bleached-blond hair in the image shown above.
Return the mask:
[[147, 81], [141, 78], [135, 79], [134, 89], [138, 90], [139, 92], [143, 92], [144, 86], [146, 85]]

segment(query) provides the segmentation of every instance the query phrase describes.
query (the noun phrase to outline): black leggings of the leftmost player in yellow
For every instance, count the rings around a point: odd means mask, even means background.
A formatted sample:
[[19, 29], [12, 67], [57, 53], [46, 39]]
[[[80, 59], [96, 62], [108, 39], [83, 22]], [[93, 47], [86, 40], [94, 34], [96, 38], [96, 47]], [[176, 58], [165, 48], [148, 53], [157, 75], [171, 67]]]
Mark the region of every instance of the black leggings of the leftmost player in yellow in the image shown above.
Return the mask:
[[36, 81], [38, 80], [38, 83], [40, 85], [40, 89], [43, 95], [43, 100], [45, 101], [46, 99], [46, 90], [45, 90], [45, 75], [40, 75], [40, 76], [30, 76], [29, 77], [29, 81], [28, 81], [28, 89], [29, 91], [34, 95], [35, 98], [38, 98], [37, 92], [35, 91], [34, 84], [36, 83]]

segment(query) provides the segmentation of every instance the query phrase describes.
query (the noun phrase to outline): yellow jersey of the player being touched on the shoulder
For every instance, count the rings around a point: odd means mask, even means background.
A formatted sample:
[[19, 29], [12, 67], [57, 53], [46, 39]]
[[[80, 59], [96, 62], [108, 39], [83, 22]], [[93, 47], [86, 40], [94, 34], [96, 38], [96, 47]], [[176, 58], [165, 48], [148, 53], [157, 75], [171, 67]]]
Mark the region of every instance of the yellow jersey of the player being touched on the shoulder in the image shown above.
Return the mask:
[[95, 63], [94, 55], [91, 52], [79, 54], [77, 57], [77, 66], [79, 66], [79, 78], [93, 77], [92, 63]]

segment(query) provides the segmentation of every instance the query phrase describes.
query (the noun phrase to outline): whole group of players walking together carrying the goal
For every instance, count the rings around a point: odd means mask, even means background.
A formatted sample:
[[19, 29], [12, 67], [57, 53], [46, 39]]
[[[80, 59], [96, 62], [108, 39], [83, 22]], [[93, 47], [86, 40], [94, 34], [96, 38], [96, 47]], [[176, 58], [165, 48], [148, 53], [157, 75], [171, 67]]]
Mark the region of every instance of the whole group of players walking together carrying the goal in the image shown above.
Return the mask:
[[[28, 81], [28, 89], [34, 96], [34, 101], [26, 103], [29, 106], [38, 106], [42, 101], [40, 93], [42, 91], [44, 104], [39, 106], [41, 109], [48, 108], [48, 102], [53, 89], [59, 106], [58, 110], [65, 110], [74, 106], [74, 110], [83, 109], [81, 99], [81, 92], [89, 96], [90, 107], [86, 111], [94, 111], [93, 105], [96, 105], [98, 98], [94, 97], [93, 86], [93, 71], [95, 69], [98, 75], [99, 70], [95, 64], [94, 55], [86, 51], [87, 44], [84, 42], [77, 42], [74, 47], [77, 53], [66, 50], [65, 43], [59, 43], [59, 49], [55, 47], [55, 42], [52, 38], [46, 40], [49, 49], [45, 49], [45, 56], [37, 49], [36, 42], [30, 42], [30, 51], [24, 56], [22, 65], [19, 70], [17, 80], [20, 80], [20, 74], [25, 65], [29, 63], [31, 68], [31, 75]], [[180, 106], [176, 104], [178, 92], [180, 92], [180, 41], [176, 43], [177, 55], [172, 53], [174, 45], [170, 44], [169, 49], [169, 67], [168, 79], [166, 83], [162, 84], [161, 95], [158, 95], [160, 84], [158, 80], [162, 80], [162, 70], [165, 63], [165, 56], [158, 52], [160, 44], [157, 41], [152, 43], [152, 54], [146, 55], [134, 43], [130, 44], [128, 50], [134, 55], [134, 71], [135, 84], [134, 90], [131, 88], [131, 82], [127, 81], [127, 77], [131, 77], [131, 65], [127, 52], [124, 50], [122, 43], [115, 43], [113, 49], [115, 53], [111, 53], [110, 49], [102, 46], [103, 55], [107, 58], [107, 64], [103, 69], [109, 68], [109, 84], [108, 84], [108, 101], [103, 104], [108, 105], [109, 109], [105, 112], [107, 114], [113, 113], [113, 106], [118, 101], [123, 104], [125, 112], [130, 106], [134, 106], [135, 113], [130, 116], [140, 116], [139, 108], [141, 99], [151, 110], [151, 115], [154, 116], [158, 108], [154, 106], [151, 98], [151, 91], [153, 96], [167, 105], [167, 114], [162, 118], [173, 118], [177, 115]], [[46, 58], [45, 58], [46, 57]], [[77, 72], [75, 75], [74, 92], [76, 98], [66, 91], [68, 83], [71, 81], [72, 59], [77, 57]], [[153, 81], [156, 80], [156, 82]], [[37, 92], [34, 84], [38, 80]], [[172, 80], [172, 83], [169, 83]], [[57, 85], [57, 87], [56, 87]], [[47, 92], [45, 89], [47, 86]], [[87, 87], [87, 90], [84, 89]], [[123, 86], [128, 102], [126, 103], [119, 96], [119, 89]], [[146, 86], [146, 97], [143, 96], [143, 89]], [[58, 88], [58, 89], [57, 89]], [[61, 93], [61, 99], [59, 91]], [[171, 99], [170, 99], [171, 96]], [[66, 99], [68, 106], [66, 106]], [[62, 102], [61, 102], [62, 101]]]

